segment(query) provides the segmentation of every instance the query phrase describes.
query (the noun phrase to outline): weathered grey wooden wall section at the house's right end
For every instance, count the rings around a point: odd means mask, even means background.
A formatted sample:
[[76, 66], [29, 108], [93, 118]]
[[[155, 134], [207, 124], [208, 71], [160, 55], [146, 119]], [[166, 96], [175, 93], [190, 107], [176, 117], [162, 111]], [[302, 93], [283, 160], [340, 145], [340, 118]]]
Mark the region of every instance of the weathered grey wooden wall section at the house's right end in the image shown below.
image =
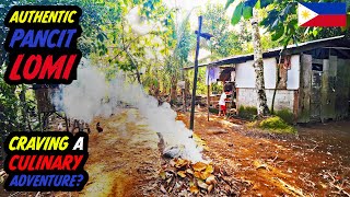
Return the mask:
[[350, 59], [329, 56], [329, 59], [324, 59], [322, 62], [323, 71], [319, 72], [322, 85], [320, 92], [317, 92], [320, 96], [320, 111], [314, 112], [315, 100], [319, 97], [313, 92], [315, 89], [312, 80], [316, 73], [312, 70], [313, 58], [311, 55], [301, 56], [298, 123], [317, 120], [313, 118], [315, 113], [319, 113], [320, 121], [349, 117]]

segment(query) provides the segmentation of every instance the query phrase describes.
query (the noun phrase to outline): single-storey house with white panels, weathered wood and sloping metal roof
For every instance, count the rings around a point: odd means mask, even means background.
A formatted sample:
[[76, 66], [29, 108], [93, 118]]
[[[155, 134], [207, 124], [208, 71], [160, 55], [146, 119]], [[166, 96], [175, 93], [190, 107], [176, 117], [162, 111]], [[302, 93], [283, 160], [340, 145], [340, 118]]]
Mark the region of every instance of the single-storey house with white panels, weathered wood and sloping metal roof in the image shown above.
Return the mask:
[[[262, 57], [265, 88], [270, 108], [278, 76], [281, 80], [276, 89], [275, 111], [289, 111], [295, 123], [349, 117], [350, 39], [337, 36], [301, 43], [284, 49], [281, 47], [267, 50]], [[202, 63], [199, 67], [234, 70], [233, 82], [240, 109], [241, 106], [257, 105], [253, 62], [254, 56], [249, 54]]]

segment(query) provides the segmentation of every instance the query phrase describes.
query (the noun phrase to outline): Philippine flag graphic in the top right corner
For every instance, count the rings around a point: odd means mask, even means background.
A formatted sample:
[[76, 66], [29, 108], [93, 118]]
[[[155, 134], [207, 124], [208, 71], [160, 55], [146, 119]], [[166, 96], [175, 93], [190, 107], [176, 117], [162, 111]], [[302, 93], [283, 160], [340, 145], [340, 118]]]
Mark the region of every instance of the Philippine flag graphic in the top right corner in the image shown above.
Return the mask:
[[299, 3], [298, 22], [300, 26], [347, 26], [347, 4]]

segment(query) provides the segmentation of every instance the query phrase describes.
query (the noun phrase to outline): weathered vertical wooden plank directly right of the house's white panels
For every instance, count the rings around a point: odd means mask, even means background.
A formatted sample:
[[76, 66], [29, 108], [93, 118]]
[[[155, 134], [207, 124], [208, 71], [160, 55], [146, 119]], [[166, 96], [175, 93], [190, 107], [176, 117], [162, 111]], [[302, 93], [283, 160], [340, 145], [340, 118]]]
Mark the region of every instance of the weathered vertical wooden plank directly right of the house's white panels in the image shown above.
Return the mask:
[[311, 55], [301, 55], [298, 123], [310, 121], [312, 59]]

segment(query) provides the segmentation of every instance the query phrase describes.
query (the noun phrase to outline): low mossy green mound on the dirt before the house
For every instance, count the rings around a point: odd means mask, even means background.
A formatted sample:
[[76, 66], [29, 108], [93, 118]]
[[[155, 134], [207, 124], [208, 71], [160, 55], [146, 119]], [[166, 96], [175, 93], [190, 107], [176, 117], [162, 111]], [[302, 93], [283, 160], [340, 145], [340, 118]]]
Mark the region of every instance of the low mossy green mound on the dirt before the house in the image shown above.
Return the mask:
[[258, 127], [277, 134], [296, 134], [296, 129], [287, 124], [279, 116], [272, 116], [264, 119], [260, 121]]

